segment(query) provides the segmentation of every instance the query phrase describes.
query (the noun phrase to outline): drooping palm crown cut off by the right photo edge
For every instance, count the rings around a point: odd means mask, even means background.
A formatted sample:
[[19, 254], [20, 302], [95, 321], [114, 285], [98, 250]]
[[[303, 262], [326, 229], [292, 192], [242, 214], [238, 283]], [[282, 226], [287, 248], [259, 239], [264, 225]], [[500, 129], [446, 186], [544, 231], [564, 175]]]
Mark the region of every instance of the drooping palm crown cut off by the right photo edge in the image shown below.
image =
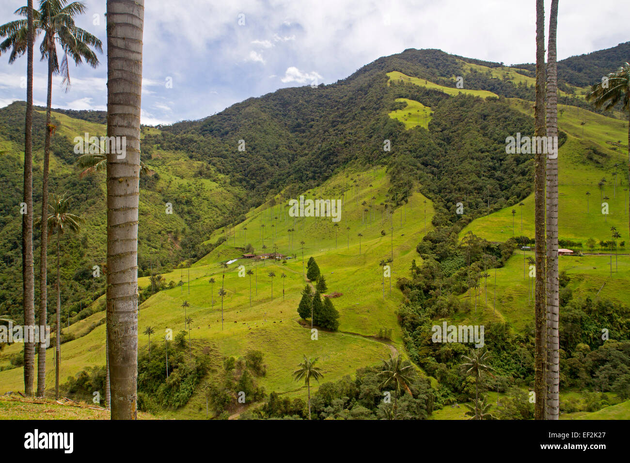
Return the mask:
[[[610, 72], [606, 79], [593, 85], [587, 93], [587, 101], [592, 101], [595, 108], [611, 110], [617, 103], [622, 104], [623, 110], [628, 111], [630, 121], [630, 64], [627, 62], [617, 71]], [[630, 125], [628, 127], [628, 175], [630, 176]], [[628, 203], [630, 214], [630, 202]], [[630, 219], [628, 222], [630, 229]]]

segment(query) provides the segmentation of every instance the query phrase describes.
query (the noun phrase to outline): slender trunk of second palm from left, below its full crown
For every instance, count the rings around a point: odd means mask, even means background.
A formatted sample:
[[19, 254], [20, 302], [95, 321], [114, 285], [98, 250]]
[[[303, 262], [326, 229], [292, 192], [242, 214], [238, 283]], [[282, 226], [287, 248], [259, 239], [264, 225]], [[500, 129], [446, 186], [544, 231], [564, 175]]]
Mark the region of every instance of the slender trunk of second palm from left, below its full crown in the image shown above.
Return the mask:
[[[50, 46], [54, 43], [49, 43]], [[42, 178], [42, 234], [40, 235], [40, 326], [45, 326], [48, 311], [48, 172], [50, 163], [50, 108], [52, 107], [52, 71], [54, 61], [52, 54], [48, 56], [48, 91], [46, 96], [46, 134], [43, 144], [43, 178]], [[46, 389], [46, 347], [39, 346], [37, 356], [37, 396], [43, 397]]]

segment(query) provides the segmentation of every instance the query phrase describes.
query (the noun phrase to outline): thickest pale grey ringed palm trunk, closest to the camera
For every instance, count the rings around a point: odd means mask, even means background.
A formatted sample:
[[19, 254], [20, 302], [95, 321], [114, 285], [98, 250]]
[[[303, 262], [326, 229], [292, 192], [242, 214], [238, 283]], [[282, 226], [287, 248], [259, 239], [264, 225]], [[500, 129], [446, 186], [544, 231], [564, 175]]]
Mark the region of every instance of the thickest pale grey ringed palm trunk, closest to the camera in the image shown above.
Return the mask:
[[138, 199], [144, 0], [107, 0], [107, 326], [112, 420], [137, 419]]

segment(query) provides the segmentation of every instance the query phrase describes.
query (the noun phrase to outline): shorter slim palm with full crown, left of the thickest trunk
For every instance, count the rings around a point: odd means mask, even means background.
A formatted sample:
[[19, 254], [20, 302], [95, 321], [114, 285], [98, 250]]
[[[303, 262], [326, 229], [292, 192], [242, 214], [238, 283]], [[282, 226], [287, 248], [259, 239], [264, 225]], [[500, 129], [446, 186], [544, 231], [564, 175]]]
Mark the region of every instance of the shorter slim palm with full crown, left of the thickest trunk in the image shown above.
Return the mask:
[[[60, 197], [52, 197], [52, 204], [49, 204], [50, 214], [46, 219], [49, 235], [53, 232], [57, 234], [57, 311], [55, 326], [55, 398], [59, 399], [59, 361], [61, 354], [61, 283], [60, 283], [60, 266], [59, 256], [61, 254], [60, 240], [64, 231], [69, 230], [75, 233], [79, 232], [79, 222], [81, 219], [74, 214], [68, 212], [68, 202], [70, 197], [61, 195]], [[42, 220], [38, 220], [42, 222]]]

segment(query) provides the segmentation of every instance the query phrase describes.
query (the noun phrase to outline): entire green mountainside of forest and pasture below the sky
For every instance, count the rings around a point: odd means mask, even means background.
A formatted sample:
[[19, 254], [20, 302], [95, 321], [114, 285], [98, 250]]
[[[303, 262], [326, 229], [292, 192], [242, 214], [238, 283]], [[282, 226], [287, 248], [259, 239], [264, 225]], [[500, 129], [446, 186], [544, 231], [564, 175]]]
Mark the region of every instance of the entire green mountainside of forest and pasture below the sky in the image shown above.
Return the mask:
[[[257, 407], [271, 407], [271, 396], [259, 394], [236, 405], [242, 389], [234, 388], [246, 384], [239, 375], [251, 374], [247, 356], [260, 351], [266, 374], [253, 374], [252, 389], [263, 387], [266, 394], [277, 392], [299, 404], [307, 392], [292, 372], [303, 355], [317, 357], [324, 378], [311, 389], [320, 418], [353, 416], [349, 413], [377, 418], [372, 409], [381, 401], [382, 387], [370, 389], [362, 381], [371, 378], [369, 367], [399, 353], [420, 375], [413, 386], [422, 413], [460, 419], [464, 409], [452, 405], [469, 401], [474, 380], [460, 372], [461, 355], [468, 353], [464, 343], [432, 342], [432, 325], [442, 322], [486, 326], [496, 367], [484, 391], [488, 400], [496, 400], [497, 390], [508, 403], [527, 394], [533, 374], [534, 301], [527, 276], [532, 253], [510, 238], [534, 236], [532, 159], [506, 154], [505, 139], [517, 132], [533, 134], [532, 78], [527, 67], [469, 61], [438, 50], [406, 50], [329, 86], [282, 89], [203, 120], [143, 127], [142, 160], [150, 173], [140, 178], [139, 361], [149, 353], [149, 338], [142, 334], [149, 326], [154, 355], [150, 368], [148, 360], [141, 363], [146, 369], [140, 376], [173, 391], [181, 381], [185, 400], [156, 406], [152, 401], [159, 394], [141, 391], [141, 407], [160, 418], [205, 418], [206, 398], [215, 400], [221, 392], [228, 398], [211, 417], [251, 417]], [[455, 86], [457, 76], [464, 76], [462, 89]], [[588, 254], [559, 260], [568, 372], [563, 387], [584, 399], [577, 408], [592, 408], [588, 391], [604, 389], [621, 399], [627, 380], [622, 365], [630, 359], [627, 122], [587, 110], [582, 87], [565, 89], [564, 101], [576, 106], [559, 106], [559, 235]], [[0, 156], [6, 180], [0, 192], [5, 256], [0, 317], [16, 321], [21, 317], [16, 296], [20, 217], [14, 198], [21, 188], [22, 153], [20, 134], [12, 127], [23, 108], [18, 102], [0, 110], [0, 150], [6, 151]], [[105, 133], [95, 121], [100, 121], [96, 114], [54, 113], [50, 189], [72, 193], [84, 218], [81, 234], [62, 241], [63, 383], [105, 365], [105, 278], [92, 277], [93, 265], [105, 262], [105, 176], [80, 176], [72, 151], [77, 134]], [[36, 135], [42, 124], [38, 111]], [[245, 151], [238, 149], [241, 139]], [[42, 147], [35, 148], [35, 178], [41, 181]], [[341, 200], [340, 220], [290, 217], [288, 202], [301, 195]], [[609, 214], [602, 215], [606, 197]], [[173, 214], [166, 214], [167, 203]], [[626, 242], [615, 251], [600, 246], [610, 239], [612, 226]], [[590, 238], [596, 240], [593, 250]], [[277, 252], [287, 259], [244, 258], [248, 252]], [[53, 246], [49, 253], [52, 263]], [[311, 338], [310, 321], [296, 311], [305, 285], [316, 284], [305, 275], [311, 257], [326, 278], [326, 294], [336, 295], [330, 300], [340, 314], [338, 331], [319, 329], [317, 340]], [[387, 259], [389, 278], [381, 265]], [[227, 261], [224, 270], [221, 263]], [[49, 268], [49, 276], [53, 272]], [[50, 320], [52, 285], [49, 294]], [[190, 305], [184, 309], [185, 301]], [[185, 317], [192, 318], [188, 326]], [[602, 327], [609, 340], [601, 338]], [[185, 336], [165, 344], [167, 330]], [[175, 354], [176, 343], [181, 352]], [[168, 380], [160, 363], [165, 359], [156, 360], [164, 345], [179, 356], [171, 357], [171, 365], [180, 360], [183, 365]], [[0, 350], [0, 393], [21, 389], [21, 348], [15, 343]], [[55, 380], [52, 352], [47, 353], [49, 390]], [[236, 360], [228, 367], [231, 357]], [[202, 373], [186, 382], [185, 369]], [[229, 391], [203, 386], [222, 381]], [[333, 404], [339, 397], [330, 391], [352, 395], [351, 383], [371, 391], [362, 409], [354, 408], [358, 402]], [[607, 403], [596, 405], [604, 413]], [[620, 409], [617, 415], [627, 413]]]

